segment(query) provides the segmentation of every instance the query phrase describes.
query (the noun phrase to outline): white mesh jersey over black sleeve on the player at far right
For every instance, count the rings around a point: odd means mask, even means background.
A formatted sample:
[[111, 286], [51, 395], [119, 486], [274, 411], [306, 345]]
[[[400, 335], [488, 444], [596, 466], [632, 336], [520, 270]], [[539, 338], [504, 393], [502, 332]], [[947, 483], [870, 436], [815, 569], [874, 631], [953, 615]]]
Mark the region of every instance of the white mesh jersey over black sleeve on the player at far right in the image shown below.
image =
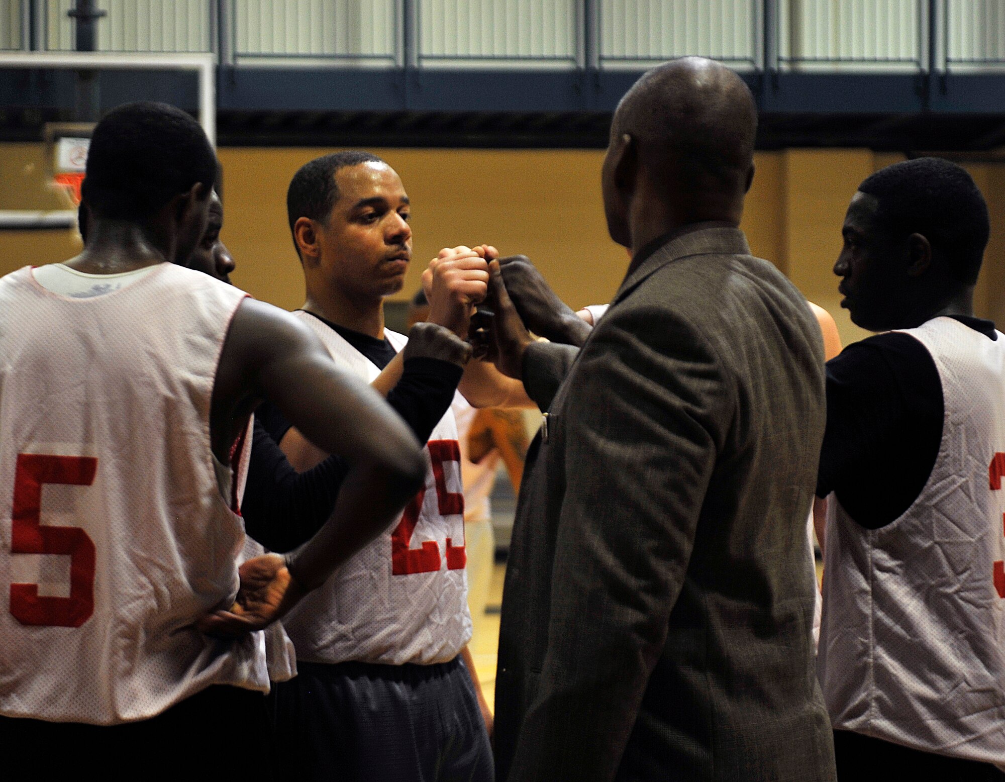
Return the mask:
[[942, 381], [942, 445], [891, 524], [836, 498], [825, 549], [820, 682], [836, 729], [1005, 763], [1005, 336], [952, 318], [904, 332]]

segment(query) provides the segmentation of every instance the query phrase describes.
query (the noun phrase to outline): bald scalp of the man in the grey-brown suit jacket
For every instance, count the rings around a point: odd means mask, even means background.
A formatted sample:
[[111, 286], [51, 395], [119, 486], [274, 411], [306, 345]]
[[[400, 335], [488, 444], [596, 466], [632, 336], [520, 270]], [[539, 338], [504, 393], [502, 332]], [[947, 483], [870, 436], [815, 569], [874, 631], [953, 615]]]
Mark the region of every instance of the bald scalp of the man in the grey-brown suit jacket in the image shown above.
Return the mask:
[[728, 67], [684, 57], [635, 82], [614, 114], [611, 132], [636, 140], [643, 165], [675, 164], [681, 184], [746, 188], [757, 107], [747, 84]]

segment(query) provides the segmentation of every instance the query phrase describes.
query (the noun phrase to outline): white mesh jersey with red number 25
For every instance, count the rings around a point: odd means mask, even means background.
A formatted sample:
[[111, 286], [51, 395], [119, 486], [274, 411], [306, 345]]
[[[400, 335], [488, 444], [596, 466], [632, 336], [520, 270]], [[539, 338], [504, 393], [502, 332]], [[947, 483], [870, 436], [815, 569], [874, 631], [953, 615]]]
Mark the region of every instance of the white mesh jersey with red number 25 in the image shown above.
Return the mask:
[[[307, 313], [293, 315], [318, 334], [340, 368], [368, 383], [380, 374], [334, 329]], [[385, 337], [399, 351], [408, 341], [392, 331]], [[460, 450], [449, 410], [425, 457], [425, 487], [401, 519], [283, 619], [297, 659], [446, 662], [470, 640]]]

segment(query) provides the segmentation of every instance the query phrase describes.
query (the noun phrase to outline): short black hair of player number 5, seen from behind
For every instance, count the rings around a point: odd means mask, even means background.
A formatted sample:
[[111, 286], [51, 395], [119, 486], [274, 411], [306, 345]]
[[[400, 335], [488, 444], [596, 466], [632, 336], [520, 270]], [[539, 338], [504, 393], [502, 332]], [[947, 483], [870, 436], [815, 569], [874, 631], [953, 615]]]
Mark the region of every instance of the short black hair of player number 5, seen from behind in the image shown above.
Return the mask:
[[167, 104], [114, 109], [94, 128], [81, 197], [95, 217], [143, 222], [192, 185], [216, 179], [202, 127]]

